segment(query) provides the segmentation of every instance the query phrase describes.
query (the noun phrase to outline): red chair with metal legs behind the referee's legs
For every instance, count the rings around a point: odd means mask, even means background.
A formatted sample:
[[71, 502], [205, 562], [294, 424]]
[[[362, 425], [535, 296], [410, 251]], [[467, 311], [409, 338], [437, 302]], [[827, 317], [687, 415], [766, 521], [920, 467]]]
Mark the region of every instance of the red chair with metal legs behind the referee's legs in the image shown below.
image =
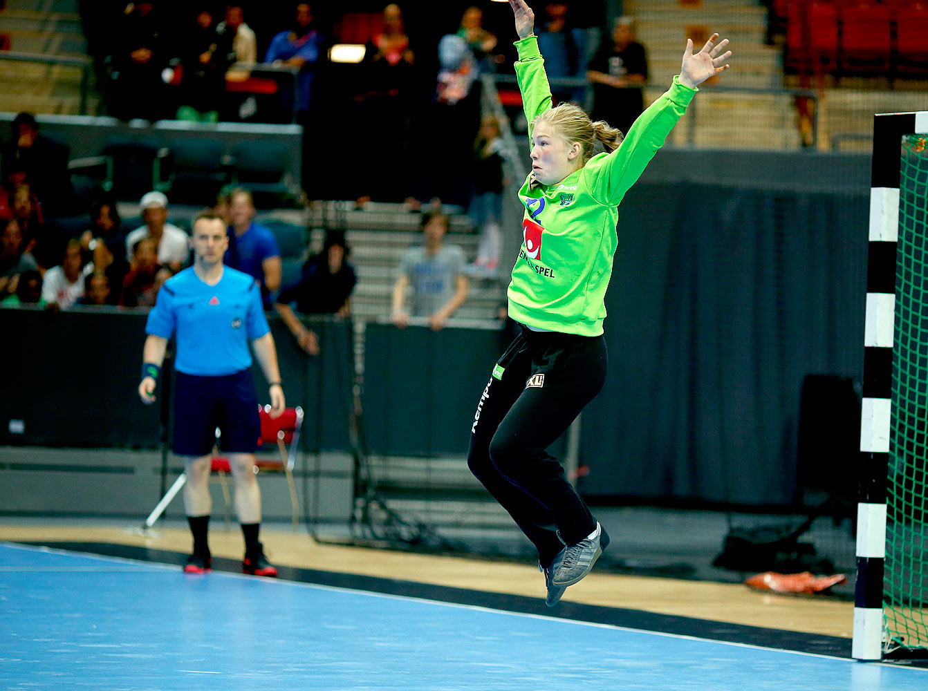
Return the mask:
[[[270, 405], [265, 405], [264, 408], [258, 407], [258, 415], [261, 417], [261, 438], [258, 440], [259, 448], [258, 453], [255, 454], [254, 465], [258, 472], [282, 472], [287, 476], [287, 484], [290, 487], [290, 515], [293, 528], [296, 529], [300, 524], [300, 501], [297, 498], [296, 484], [293, 481], [293, 467], [296, 464], [296, 454], [300, 444], [300, 430], [303, 429], [303, 408], [299, 406], [285, 408], [284, 412], [277, 417], [271, 417], [270, 411]], [[219, 431], [217, 429], [217, 441], [218, 436]], [[232, 501], [228, 492], [226, 476], [230, 473], [231, 467], [229, 466], [229, 459], [226, 456], [219, 455], [215, 448], [213, 449], [213, 462], [210, 469], [219, 475], [223, 496], [226, 499], [227, 522]], [[186, 482], [187, 475], [185, 473], [181, 473], [177, 480], [174, 480], [171, 489], [161, 498], [161, 501], [146, 518], [145, 526], [147, 528], [153, 526], [155, 521], [161, 518], [164, 509], [167, 508]]]

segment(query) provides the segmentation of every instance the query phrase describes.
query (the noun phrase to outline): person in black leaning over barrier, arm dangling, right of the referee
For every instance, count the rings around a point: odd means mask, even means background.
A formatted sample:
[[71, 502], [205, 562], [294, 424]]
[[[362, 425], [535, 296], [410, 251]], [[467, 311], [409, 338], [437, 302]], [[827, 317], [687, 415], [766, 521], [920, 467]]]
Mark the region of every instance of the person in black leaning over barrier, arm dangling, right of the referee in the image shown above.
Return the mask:
[[351, 315], [351, 294], [357, 277], [354, 267], [347, 262], [348, 246], [342, 231], [329, 231], [326, 243], [319, 254], [310, 257], [303, 266], [303, 275], [293, 286], [280, 291], [274, 305], [290, 333], [305, 352], [316, 355], [319, 341], [316, 334], [303, 326], [293, 313], [291, 304], [300, 314]]

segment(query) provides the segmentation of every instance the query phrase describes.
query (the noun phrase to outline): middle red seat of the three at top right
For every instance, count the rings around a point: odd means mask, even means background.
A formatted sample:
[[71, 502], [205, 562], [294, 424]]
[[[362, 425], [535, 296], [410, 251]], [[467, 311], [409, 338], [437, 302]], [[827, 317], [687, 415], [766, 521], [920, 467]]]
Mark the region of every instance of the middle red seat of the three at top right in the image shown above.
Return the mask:
[[870, 3], [849, 5], [842, 8], [841, 19], [842, 70], [888, 72], [889, 7]]

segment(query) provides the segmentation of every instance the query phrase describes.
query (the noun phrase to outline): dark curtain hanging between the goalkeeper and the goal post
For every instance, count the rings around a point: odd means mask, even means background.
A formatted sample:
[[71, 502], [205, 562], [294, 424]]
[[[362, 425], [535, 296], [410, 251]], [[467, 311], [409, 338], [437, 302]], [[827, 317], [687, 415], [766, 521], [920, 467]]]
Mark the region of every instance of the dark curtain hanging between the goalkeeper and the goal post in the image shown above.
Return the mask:
[[804, 377], [862, 373], [868, 210], [867, 193], [635, 186], [581, 492], [791, 503]]

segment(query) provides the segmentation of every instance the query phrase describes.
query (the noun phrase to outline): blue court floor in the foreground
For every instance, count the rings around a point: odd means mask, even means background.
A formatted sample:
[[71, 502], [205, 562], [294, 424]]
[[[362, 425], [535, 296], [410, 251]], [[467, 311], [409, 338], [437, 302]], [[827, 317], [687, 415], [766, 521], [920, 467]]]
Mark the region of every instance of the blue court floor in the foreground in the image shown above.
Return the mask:
[[928, 670], [0, 544], [0, 688], [924, 691]]

